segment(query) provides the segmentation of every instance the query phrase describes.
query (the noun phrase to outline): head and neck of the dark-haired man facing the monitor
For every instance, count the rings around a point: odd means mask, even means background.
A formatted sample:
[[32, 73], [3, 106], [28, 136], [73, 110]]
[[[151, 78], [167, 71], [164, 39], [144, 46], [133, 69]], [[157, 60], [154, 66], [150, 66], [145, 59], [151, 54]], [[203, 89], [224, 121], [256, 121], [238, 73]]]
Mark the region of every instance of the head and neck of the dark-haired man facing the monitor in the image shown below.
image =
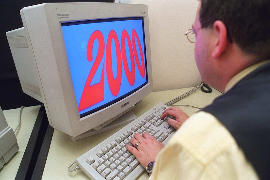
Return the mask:
[[270, 59], [270, 0], [200, 0], [192, 29], [202, 80], [221, 91], [241, 70]]

